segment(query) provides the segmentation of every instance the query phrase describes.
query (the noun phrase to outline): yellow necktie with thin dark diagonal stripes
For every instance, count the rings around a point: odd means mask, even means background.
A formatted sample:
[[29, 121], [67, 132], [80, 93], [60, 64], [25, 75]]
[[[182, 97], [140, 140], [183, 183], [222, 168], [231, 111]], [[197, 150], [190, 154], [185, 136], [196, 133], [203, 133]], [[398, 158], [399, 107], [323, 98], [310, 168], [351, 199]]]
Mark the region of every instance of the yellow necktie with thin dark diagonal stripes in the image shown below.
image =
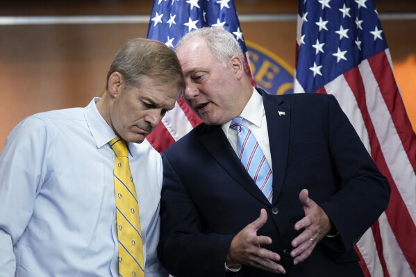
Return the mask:
[[142, 230], [133, 177], [128, 165], [126, 142], [115, 137], [108, 142], [115, 152], [114, 190], [119, 240], [119, 276], [144, 276]]

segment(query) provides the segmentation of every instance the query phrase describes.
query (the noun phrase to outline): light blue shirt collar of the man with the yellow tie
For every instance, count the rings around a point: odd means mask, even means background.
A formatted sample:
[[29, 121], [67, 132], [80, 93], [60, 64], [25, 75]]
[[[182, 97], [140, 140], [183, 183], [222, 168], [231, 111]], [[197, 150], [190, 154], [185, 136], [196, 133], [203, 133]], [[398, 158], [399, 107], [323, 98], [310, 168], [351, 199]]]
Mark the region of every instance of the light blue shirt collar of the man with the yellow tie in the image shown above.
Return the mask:
[[94, 97], [88, 106], [85, 107], [85, 120], [90, 128], [92, 137], [94, 137], [97, 148], [101, 148], [101, 146], [117, 136], [110, 125], [101, 117], [97, 109], [96, 103], [100, 99], [99, 97]]

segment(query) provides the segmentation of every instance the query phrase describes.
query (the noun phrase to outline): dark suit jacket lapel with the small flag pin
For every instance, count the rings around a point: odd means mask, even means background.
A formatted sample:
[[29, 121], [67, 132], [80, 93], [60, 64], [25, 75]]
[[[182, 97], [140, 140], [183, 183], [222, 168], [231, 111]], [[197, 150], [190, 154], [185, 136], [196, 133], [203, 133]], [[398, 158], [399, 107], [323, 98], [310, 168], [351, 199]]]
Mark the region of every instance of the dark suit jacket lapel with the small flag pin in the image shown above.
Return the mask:
[[284, 106], [283, 99], [262, 92], [267, 119], [270, 152], [273, 167], [273, 204], [283, 187], [288, 164], [290, 107]]

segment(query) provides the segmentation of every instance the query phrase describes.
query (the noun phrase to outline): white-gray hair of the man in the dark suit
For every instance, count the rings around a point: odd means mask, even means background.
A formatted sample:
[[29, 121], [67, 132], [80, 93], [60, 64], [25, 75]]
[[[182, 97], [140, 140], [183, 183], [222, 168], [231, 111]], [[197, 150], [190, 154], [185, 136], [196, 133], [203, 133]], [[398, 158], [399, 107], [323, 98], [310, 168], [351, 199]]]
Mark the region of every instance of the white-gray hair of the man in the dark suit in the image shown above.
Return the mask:
[[242, 53], [240, 44], [238, 44], [235, 37], [230, 32], [224, 30], [224, 28], [203, 27], [186, 33], [181, 40], [179, 40], [178, 44], [176, 44], [175, 49], [178, 50], [190, 40], [197, 38], [205, 40], [211, 54], [224, 67], [226, 67], [228, 60], [230, 60], [232, 56], [238, 56], [244, 64], [244, 72], [248, 74], [247, 67], [245, 66], [244, 53]]

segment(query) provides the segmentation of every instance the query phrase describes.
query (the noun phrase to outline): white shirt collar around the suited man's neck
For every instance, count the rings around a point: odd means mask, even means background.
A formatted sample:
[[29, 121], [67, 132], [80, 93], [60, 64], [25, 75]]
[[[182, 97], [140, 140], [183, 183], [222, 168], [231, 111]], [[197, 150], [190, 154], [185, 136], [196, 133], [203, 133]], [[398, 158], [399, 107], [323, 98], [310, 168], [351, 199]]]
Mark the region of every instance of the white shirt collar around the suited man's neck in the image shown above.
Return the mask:
[[[261, 112], [258, 112], [258, 111]], [[256, 125], [258, 128], [261, 127], [263, 121], [263, 115], [265, 113], [265, 108], [263, 107], [263, 97], [257, 92], [256, 88], [253, 87], [253, 94], [249, 101], [247, 102], [244, 110], [242, 110], [240, 117], [243, 117], [251, 124]], [[231, 119], [233, 120], [233, 119]], [[228, 134], [228, 129], [230, 128], [231, 120], [222, 124], [222, 130], [225, 134]]]

